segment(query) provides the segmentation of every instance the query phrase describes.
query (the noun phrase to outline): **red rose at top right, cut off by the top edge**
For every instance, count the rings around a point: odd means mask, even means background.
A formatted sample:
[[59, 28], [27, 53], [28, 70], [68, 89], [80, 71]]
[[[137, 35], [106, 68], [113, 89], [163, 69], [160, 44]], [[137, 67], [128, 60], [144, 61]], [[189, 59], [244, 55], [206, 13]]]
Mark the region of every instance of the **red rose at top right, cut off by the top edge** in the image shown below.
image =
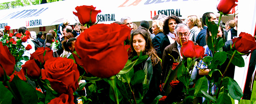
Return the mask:
[[238, 2], [238, 0], [220, 0], [217, 10], [224, 14], [229, 14], [231, 9], [237, 6], [235, 2]]

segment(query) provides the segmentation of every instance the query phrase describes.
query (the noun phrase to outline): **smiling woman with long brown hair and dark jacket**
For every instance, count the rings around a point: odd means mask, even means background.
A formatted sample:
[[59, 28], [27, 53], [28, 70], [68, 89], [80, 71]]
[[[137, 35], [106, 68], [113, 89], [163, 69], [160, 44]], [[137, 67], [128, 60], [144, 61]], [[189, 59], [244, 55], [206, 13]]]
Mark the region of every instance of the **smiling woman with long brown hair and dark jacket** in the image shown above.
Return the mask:
[[[161, 81], [162, 62], [160, 58], [158, 58], [157, 53], [153, 47], [153, 44], [151, 43], [150, 35], [148, 31], [141, 28], [138, 28], [137, 30], [135, 30], [132, 33], [130, 45], [131, 45], [131, 52], [129, 54], [130, 59], [133, 59], [136, 56], [140, 56], [140, 53], [142, 53], [142, 55], [148, 55], [149, 57], [147, 61], [144, 60], [140, 64], [135, 65], [134, 72], [139, 70], [144, 70], [148, 73], [150, 72], [149, 67], [152, 67], [153, 74], [151, 72], [151, 76], [150, 74], [148, 74], [150, 77], [147, 78], [149, 79], [148, 92], [146, 93], [145, 97], [142, 100], [143, 103], [150, 104], [153, 102], [155, 97], [157, 97], [160, 94], [159, 85]], [[135, 59], [133, 59], [132, 61], [134, 61]], [[151, 60], [151, 63], [150, 61], [148, 63], [148, 60]], [[136, 84], [136, 86], [137, 85], [140, 86], [142, 84]], [[137, 87], [137, 88], [141, 88], [141, 87]]]

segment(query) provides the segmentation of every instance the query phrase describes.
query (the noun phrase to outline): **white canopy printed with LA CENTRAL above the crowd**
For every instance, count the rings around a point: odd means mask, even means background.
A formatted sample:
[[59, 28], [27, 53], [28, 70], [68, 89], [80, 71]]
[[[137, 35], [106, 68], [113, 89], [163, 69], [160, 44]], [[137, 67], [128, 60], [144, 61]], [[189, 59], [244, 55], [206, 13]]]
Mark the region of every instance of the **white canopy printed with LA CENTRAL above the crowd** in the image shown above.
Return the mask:
[[155, 14], [175, 15], [186, 19], [189, 15], [202, 17], [205, 12], [217, 13], [216, 0], [64, 0], [0, 11], [0, 30], [4, 26], [18, 29], [59, 25], [64, 20], [77, 22], [75, 7], [93, 5], [101, 10], [97, 20], [109, 24], [129, 16], [133, 21], [148, 20]]

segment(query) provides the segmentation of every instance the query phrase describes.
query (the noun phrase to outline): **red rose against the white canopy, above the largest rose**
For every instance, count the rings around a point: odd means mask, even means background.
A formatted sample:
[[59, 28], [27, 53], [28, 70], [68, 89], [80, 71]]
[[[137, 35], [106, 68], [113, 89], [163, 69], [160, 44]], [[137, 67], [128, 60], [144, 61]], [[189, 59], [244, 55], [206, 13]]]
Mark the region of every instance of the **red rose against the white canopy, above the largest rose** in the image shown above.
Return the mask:
[[77, 6], [75, 10], [77, 13], [73, 12], [75, 16], [78, 17], [80, 23], [82, 25], [92, 22], [94, 24], [96, 22], [96, 16], [98, 13], [101, 13], [101, 10], [95, 10], [96, 7], [93, 6]]

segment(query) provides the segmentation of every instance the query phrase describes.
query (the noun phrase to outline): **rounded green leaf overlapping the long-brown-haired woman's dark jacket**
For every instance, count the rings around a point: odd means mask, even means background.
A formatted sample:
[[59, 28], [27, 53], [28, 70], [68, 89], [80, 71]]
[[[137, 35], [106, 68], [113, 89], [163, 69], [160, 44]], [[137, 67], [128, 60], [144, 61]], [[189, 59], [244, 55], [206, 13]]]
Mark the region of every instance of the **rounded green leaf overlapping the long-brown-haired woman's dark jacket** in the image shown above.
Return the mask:
[[131, 79], [131, 84], [135, 85], [135, 84], [142, 83], [144, 81], [144, 78], [145, 78], [144, 70], [136, 71], [134, 73], [133, 78]]

